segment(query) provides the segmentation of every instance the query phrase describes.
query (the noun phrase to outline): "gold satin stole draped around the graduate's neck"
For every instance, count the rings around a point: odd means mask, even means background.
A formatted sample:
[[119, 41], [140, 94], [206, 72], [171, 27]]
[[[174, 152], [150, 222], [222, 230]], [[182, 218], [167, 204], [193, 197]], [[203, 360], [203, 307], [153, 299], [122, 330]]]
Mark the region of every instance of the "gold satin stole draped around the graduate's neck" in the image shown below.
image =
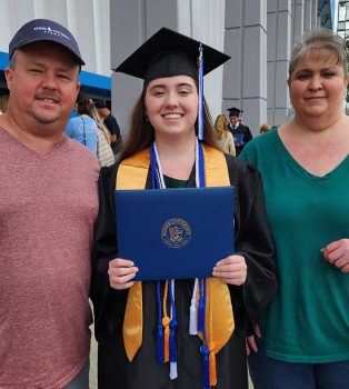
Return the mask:
[[[230, 186], [223, 153], [205, 143], [202, 146], [207, 187]], [[118, 170], [116, 189], [144, 189], [149, 167], [149, 148], [124, 159]], [[137, 265], [137, 258], [133, 258], [133, 260]], [[210, 327], [211, 329], [211, 340], [215, 343], [215, 353], [217, 353], [230, 339], [235, 329], [235, 321], [227, 283], [215, 277], [208, 278], [208, 282], [212, 315], [210, 315], [211, 322], [208, 322], [209, 318], [207, 318], [206, 325], [207, 328]], [[137, 281], [129, 290], [122, 328], [126, 353], [130, 361], [141, 347], [142, 327], [142, 283]]]

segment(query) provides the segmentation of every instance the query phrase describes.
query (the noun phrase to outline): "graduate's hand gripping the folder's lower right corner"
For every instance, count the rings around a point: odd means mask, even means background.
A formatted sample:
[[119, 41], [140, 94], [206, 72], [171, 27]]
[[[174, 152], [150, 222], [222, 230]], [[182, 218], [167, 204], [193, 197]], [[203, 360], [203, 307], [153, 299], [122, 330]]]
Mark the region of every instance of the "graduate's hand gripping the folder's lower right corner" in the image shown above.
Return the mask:
[[216, 263], [212, 275], [226, 283], [243, 285], [247, 278], [246, 260], [239, 255], [229, 256]]

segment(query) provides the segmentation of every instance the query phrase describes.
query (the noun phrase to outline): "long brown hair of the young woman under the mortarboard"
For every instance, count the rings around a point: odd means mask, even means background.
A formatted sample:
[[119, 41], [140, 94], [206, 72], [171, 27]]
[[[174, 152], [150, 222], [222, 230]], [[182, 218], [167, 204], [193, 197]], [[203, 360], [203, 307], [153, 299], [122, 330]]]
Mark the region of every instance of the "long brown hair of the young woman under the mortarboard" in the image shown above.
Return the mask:
[[[198, 83], [195, 80], [198, 89]], [[131, 112], [129, 121], [129, 131], [123, 147], [120, 151], [119, 160], [123, 160], [130, 156], [136, 154], [149, 147], [154, 141], [154, 130], [146, 114], [144, 97], [148, 84], [143, 86], [143, 90], [137, 100]], [[215, 129], [212, 126], [211, 116], [205, 102], [205, 122], [203, 122], [203, 142], [218, 148], [215, 137]], [[198, 134], [198, 120], [196, 121], [196, 133]]]

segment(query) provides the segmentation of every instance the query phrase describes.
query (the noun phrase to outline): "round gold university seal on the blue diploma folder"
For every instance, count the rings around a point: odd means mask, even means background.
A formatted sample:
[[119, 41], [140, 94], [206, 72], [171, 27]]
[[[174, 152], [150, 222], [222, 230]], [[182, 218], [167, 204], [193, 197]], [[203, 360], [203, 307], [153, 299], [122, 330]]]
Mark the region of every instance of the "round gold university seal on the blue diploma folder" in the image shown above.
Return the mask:
[[191, 228], [183, 219], [169, 219], [161, 228], [161, 239], [163, 243], [172, 249], [180, 249], [188, 245], [190, 238]]

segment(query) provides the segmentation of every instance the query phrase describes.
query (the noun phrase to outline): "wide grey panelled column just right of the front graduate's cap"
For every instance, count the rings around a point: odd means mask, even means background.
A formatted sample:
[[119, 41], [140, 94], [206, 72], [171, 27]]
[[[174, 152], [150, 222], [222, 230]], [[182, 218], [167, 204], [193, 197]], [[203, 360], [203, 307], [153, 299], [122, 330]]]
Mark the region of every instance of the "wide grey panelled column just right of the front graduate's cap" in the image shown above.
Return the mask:
[[[267, 121], [267, 0], [227, 0], [223, 107], [242, 109], [253, 134]], [[225, 112], [227, 113], [227, 111]]]

